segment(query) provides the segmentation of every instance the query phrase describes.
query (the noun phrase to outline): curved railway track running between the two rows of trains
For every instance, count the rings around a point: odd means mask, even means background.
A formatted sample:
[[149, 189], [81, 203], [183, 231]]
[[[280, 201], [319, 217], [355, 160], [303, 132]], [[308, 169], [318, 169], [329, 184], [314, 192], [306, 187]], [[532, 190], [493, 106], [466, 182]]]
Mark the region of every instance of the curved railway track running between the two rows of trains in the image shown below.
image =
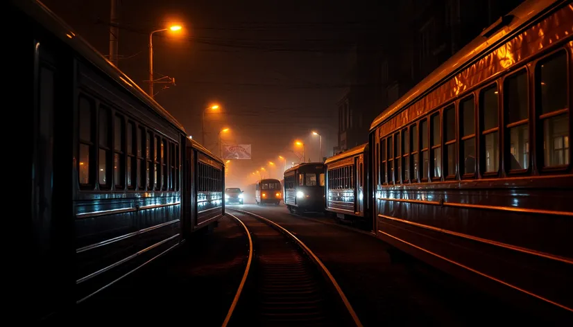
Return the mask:
[[362, 326], [334, 277], [292, 233], [255, 213], [228, 209], [249, 256], [226, 326]]

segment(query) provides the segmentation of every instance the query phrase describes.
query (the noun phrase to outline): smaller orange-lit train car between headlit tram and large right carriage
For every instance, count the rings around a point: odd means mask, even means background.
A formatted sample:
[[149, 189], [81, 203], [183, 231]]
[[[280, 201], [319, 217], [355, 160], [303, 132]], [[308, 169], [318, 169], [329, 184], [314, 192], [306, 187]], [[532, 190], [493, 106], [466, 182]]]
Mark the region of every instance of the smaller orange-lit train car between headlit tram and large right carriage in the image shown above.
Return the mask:
[[325, 161], [326, 211], [341, 220], [372, 221], [369, 150], [364, 143]]

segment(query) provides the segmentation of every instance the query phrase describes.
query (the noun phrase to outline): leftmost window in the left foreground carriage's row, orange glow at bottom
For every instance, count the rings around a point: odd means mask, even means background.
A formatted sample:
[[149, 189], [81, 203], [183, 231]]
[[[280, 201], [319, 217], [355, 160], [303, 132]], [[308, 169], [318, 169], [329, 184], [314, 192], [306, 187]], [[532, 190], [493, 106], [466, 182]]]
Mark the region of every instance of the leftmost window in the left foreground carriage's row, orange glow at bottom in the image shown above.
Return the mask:
[[94, 103], [87, 98], [80, 96], [78, 101], [79, 127], [80, 127], [80, 148], [78, 160], [78, 179], [80, 184], [91, 184], [90, 160], [94, 154]]

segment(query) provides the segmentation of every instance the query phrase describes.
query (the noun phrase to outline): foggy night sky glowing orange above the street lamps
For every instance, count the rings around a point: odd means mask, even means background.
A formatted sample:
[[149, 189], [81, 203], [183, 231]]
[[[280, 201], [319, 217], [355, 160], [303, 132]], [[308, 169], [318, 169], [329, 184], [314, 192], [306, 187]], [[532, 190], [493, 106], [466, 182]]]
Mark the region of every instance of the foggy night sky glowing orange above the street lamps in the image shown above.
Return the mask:
[[[108, 55], [110, 1], [43, 2]], [[323, 135], [323, 156], [332, 155], [348, 51], [375, 15], [354, 1], [120, 0], [119, 69], [147, 91], [148, 33], [182, 25], [183, 33], [153, 35], [154, 78], [176, 79], [164, 91], [155, 85], [155, 100], [199, 142], [201, 112], [221, 105], [222, 113], [205, 116], [205, 146], [219, 154], [216, 137], [223, 127], [231, 129], [226, 143], [253, 145], [253, 160], [229, 167], [227, 186], [243, 187], [242, 177], [254, 182], [251, 173], [268, 161], [282, 168], [279, 154], [287, 167], [298, 161], [285, 151], [293, 150], [295, 139], [305, 142], [307, 161], [318, 160], [311, 130]], [[273, 177], [281, 179], [282, 169]]]

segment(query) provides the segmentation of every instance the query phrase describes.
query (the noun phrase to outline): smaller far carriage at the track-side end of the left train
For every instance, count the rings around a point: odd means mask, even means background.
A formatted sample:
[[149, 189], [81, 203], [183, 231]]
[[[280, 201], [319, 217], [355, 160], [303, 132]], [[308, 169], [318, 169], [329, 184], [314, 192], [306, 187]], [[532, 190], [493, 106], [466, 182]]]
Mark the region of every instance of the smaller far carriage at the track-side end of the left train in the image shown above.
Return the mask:
[[[194, 198], [190, 205], [191, 227], [187, 231], [196, 231], [204, 226], [214, 227], [225, 213], [225, 165], [223, 160], [209, 152], [203, 145], [187, 139], [187, 166], [191, 173], [185, 181], [189, 191], [186, 199]], [[187, 207], [187, 205], [186, 205]]]

